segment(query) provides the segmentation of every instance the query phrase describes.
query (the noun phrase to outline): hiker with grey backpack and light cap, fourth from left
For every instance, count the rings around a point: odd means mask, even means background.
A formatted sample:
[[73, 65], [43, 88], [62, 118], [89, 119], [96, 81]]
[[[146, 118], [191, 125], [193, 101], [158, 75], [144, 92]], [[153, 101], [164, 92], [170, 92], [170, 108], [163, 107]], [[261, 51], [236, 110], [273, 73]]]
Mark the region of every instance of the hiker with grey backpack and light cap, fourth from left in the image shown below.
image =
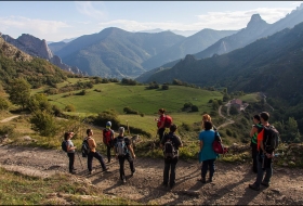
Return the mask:
[[116, 158], [119, 159], [120, 165], [120, 179], [123, 183], [127, 182], [126, 173], [124, 173], [124, 162], [126, 159], [130, 164], [132, 176], [135, 172], [135, 168], [133, 165], [133, 158], [135, 158], [135, 154], [133, 152], [131, 141], [129, 138], [124, 137], [124, 128], [120, 127], [118, 129], [119, 136], [114, 139], [114, 151]]

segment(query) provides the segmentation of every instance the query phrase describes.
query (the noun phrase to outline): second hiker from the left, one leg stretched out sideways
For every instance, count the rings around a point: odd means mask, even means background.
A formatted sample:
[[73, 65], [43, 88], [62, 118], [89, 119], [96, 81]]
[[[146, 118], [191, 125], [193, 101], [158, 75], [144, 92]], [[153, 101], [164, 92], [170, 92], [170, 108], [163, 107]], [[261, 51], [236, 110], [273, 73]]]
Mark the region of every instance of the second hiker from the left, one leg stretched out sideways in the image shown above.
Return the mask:
[[92, 165], [93, 165], [93, 157], [95, 157], [100, 164], [101, 164], [101, 167], [103, 169], [103, 171], [106, 171], [107, 168], [104, 164], [104, 160], [101, 156], [101, 154], [98, 152], [96, 152], [96, 143], [95, 143], [95, 140], [93, 139], [93, 130], [92, 129], [87, 129], [87, 140], [89, 142], [89, 147], [90, 147], [90, 153], [88, 154], [88, 169], [89, 169], [89, 173], [92, 175]]

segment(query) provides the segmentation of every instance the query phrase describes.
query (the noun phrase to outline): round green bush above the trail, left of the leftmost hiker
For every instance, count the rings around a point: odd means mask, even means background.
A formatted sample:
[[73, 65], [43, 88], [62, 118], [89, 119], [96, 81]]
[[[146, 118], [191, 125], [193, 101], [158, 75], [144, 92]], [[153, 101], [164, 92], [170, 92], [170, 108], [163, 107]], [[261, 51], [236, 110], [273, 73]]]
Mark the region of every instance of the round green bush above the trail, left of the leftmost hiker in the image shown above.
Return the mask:
[[31, 129], [44, 137], [54, 137], [57, 131], [57, 124], [54, 117], [45, 111], [35, 112], [30, 117]]

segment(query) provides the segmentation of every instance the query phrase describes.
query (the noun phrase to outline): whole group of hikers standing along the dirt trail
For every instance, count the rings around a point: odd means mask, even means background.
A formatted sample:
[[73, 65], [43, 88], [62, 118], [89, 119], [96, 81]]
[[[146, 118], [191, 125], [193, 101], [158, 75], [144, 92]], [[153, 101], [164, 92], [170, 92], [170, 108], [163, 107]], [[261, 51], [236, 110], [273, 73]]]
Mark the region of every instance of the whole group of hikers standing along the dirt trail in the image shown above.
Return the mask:
[[[157, 120], [157, 134], [160, 139], [160, 147], [163, 150], [164, 157], [164, 169], [163, 169], [163, 182], [162, 185], [173, 188], [175, 184], [175, 168], [179, 160], [179, 149], [183, 146], [181, 138], [176, 134], [177, 126], [172, 123], [172, 118], [166, 115], [166, 111], [160, 108], [158, 111], [159, 117]], [[168, 120], [169, 119], [169, 120]], [[255, 191], [260, 190], [260, 185], [269, 186], [271, 178], [273, 175], [272, 160], [274, 151], [277, 145], [268, 145], [268, 142], [274, 142], [271, 140], [273, 126], [268, 123], [269, 114], [267, 112], [262, 112], [259, 115], [253, 116], [254, 125], [250, 131], [251, 138], [251, 154], [252, 154], [252, 171], [256, 173], [256, 179], [254, 183], [249, 184], [249, 188]], [[168, 125], [169, 121], [169, 125]], [[120, 165], [120, 180], [126, 183], [124, 175], [124, 162], [129, 162], [131, 175], [135, 172], [133, 159], [135, 158], [134, 150], [132, 147], [131, 139], [124, 136], [124, 128], [119, 127], [118, 137], [115, 137], [114, 130], [110, 128], [111, 123], [106, 123], [106, 128], [103, 130], [103, 143], [107, 149], [107, 163], [111, 162], [111, 150], [116, 158], [119, 160]], [[166, 128], [169, 128], [169, 132], [164, 132]], [[198, 139], [199, 139], [199, 163], [201, 163], [201, 178], [200, 182], [206, 183], [213, 181], [213, 176], [215, 171], [215, 159], [219, 154], [213, 150], [213, 141], [215, 136], [220, 138], [216, 128], [213, 126], [210, 115], [205, 114], [202, 116], [201, 128]], [[274, 129], [275, 130], [275, 129]], [[275, 130], [276, 131], [276, 130]], [[75, 150], [71, 138], [74, 132], [66, 132], [65, 140], [67, 146], [67, 156], [69, 158], [69, 172], [76, 173], [74, 168], [75, 163]], [[96, 143], [93, 139], [93, 130], [87, 129], [87, 138], [89, 144], [88, 153], [88, 170], [91, 175], [92, 160], [93, 157], [98, 159], [103, 171], [107, 171], [108, 167], [104, 163], [102, 155], [96, 151]], [[221, 138], [220, 141], [222, 142]], [[207, 173], [209, 171], [208, 180]], [[264, 172], [266, 173], [264, 179]]]

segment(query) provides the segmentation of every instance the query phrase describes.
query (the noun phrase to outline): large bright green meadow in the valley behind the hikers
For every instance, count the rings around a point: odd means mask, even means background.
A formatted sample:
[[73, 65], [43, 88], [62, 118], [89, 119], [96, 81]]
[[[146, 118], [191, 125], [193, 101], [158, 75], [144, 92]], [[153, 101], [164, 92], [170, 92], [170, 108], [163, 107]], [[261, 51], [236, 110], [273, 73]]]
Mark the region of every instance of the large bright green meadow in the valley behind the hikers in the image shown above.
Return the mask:
[[[64, 85], [64, 83], [62, 83]], [[101, 92], [94, 91], [95, 89]], [[80, 90], [79, 90], [80, 91]], [[184, 103], [192, 102], [197, 105], [199, 113], [210, 112], [208, 105], [210, 99], [221, 99], [222, 93], [181, 86], [170, 86], [169, 90], [146, 90], [145, 86], [122, 86], [119, 83], [100, 83], [88, 89], [85, 95], [75, 95], [79, 91], [74, 91], [73, 95], [66, 93], [49, 95], [52, 104], [64, 108], [71, 104], [77, 113], [97, 114], [108, 108], [116, 110], [119, 114], [129, 106], [145, 115], [157, 114], [161, 107], [168, 113], [181, 112]]]

